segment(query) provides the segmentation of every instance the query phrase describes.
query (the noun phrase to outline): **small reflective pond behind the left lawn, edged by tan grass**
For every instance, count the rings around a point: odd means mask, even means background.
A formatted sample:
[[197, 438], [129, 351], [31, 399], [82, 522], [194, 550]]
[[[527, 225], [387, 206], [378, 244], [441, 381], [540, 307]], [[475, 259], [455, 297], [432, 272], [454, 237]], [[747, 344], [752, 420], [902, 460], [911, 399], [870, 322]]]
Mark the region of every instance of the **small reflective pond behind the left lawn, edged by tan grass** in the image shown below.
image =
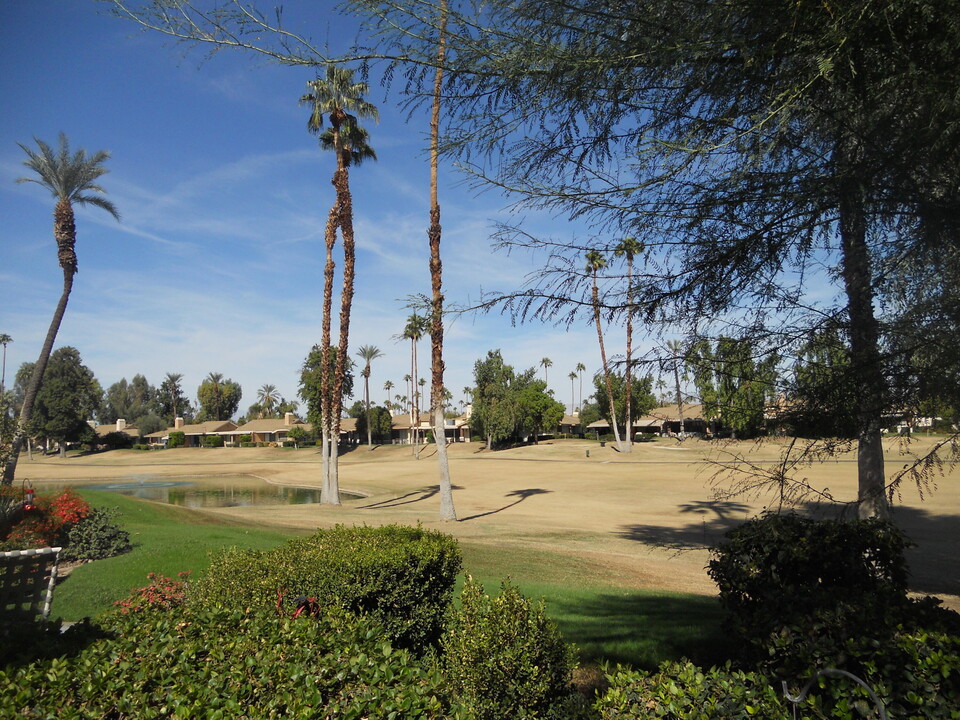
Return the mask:
[[[272, 485], [250, 475], [162, 479], [145, 475], [120, 482], [87, 483], [79, 487], [106, 490], [187, 508], [310, 505], [320, 502], [319, 488]], [[360, 497], [343, 491], [340, 495], [344, 499]]]

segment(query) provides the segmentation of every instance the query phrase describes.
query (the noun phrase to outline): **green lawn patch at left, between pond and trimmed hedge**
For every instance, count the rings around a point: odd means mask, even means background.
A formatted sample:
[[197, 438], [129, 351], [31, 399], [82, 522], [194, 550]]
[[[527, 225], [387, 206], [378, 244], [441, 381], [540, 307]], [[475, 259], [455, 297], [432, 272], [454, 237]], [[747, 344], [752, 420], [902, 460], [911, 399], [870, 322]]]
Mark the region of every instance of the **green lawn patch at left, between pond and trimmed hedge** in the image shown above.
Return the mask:
[[275, 528], [227, 524], [207, 513], [117, 493], [81, 490], [80, 494], [92, 505], [120, 510], [117, 522], [130, 533], [133, 551], [81, 565], [60, 581], [51, 616], [68, 621], [99, 615], [132, 588], [147, 585], [148, 573], [176, 578], [177, 573], [189, 571], [197, 576], [209, 565], [211, 552], [231, 546], [265, 550], [292, 536]]

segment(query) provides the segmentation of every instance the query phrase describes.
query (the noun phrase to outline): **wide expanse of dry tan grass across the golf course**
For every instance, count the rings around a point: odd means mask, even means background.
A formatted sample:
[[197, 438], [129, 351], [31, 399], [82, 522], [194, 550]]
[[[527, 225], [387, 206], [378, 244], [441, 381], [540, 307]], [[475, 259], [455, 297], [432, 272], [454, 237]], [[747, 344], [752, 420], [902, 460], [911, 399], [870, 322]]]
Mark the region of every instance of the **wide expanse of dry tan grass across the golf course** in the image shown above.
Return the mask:
[[[222, 515], [267, 525], [315, 528], [336, 523], [423, 523], [465, 545], [489, 552], [566, 556], [576, 573], [611, 586], [660, 588], [712, 594], [704, 572], [705, 546], [730, 527], [776, 503], [772, 495], [719, 500], [711, 477], [718, 452], [743, 453], [769, 466], [783, 443], [718, 445], [662, 440], [635, 446], [630, 455], [589, 441], [558, 440], [487, 452], [479, 443], [450, 446], [456, 523], [438, 520], [434, 449], [421, 459], [409, 446], [359, 447], [341, 457], [340, 485], [363, 493], [341, 507], [297, 505], [223, 508]], [[902, 448], [885, 440], [888, 468], [903, 464]], [[920, 452], [929, 441], [911, 447]], [[589, 451], [589, 457], [587, 456]], [[177, 449], [113, 451], [21, 460], [19, 477], [69, 482], [130, 476], [251, 474], [269, 482], [318, 485], [314, 449]], [[804, 473], [838, 501], [856, 496], [855, 454], [817, 463]], [[960, 608], [960, 473], [952, 466], [938, 488], [921, 500], [904, 488], [895, 519], [917, 543], [911, 551], [917, 591], [944, 597]], [[37, 483], [38, 485], [41, 482]], [[823, 510], [823, 508], [821, 508]], [[555, 558], [554, 558], [555, 559]], [[555, 564], [555, 563], [554, 563]], [[575, 570], [574, 570], [575, 569]]]

